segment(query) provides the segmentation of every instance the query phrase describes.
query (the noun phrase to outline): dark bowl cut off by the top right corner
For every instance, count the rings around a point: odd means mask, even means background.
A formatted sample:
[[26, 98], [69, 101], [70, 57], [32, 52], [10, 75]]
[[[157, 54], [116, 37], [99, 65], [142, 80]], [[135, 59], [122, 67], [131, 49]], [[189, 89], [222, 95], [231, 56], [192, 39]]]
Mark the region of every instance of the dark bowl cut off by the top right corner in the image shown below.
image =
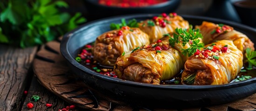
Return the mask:
[[256, 0], [242, 0], [233, 3], [242, 24], [256, 28]]

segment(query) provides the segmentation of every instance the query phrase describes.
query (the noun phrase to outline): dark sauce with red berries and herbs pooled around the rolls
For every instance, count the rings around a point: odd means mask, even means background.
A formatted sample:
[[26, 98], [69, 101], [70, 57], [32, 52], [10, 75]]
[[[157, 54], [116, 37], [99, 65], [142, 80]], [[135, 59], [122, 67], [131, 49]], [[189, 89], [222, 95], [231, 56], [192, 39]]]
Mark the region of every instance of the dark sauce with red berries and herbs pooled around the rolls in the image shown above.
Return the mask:
[[[77, 55], [77, 57], [80, 58], [79, 63], [82, 64], [84, 67], [89, 68], [90, 70], [95, 71], [99, 74], [118, 78], [117, 75], [115, 74], [115, 72], [113, 71], [113, 67], [103, 66], [103, 65], [99, 64], [97, 61], [93, 60], [93, 56], [92, 56], [92, 52], [91, 52], [92, 51], [91, 49], [93, 48], [93, 46], [94, 46], [94, 43], [89, 43], [89, 44], [85, 45], [80, 50], [79, 54]], [[83, 55], [83, 56], [81, 56], [81, 55]], [[78, 62], [79, 58], [77, 59], [77, 57], [76, 57], [76, 61]], [[248, 64], [245, 63], [244, 67], [241, 69], [244, 72], [240, 72], [237, 75], [236, 79], [231, 80], [230, 83], [240, 81], [243, 79], [247, 80], [247, 79], [249, 79], [249, 78], [247, 78], [247, 76], [251, 76], [251, 78], [256, 77], [256, 67], [253, 67], [251, 70], [248, 70], [246, 68], [246, 66], [248, 66]], [[181, 83], [181, 74], [182, 74], [183, 70], [184, 69], [181, 69], [179, 74], [175, 75], [170, 80], [160, 81], [160, 84], [161, 85], [185, 85], [185, 84]]]

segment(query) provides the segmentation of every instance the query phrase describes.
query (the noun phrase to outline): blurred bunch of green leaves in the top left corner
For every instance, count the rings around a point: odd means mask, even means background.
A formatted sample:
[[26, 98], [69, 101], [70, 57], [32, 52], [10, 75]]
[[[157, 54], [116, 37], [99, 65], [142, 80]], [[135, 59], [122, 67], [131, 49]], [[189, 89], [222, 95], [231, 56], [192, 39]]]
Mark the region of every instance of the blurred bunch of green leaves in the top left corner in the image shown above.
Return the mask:
[[59, 8], [62, 0], [3, 0], [0, 2], [0, 43], [20, 47], [39, 45], [61, 36], [84, 23], [81, 13], [73, 17]]

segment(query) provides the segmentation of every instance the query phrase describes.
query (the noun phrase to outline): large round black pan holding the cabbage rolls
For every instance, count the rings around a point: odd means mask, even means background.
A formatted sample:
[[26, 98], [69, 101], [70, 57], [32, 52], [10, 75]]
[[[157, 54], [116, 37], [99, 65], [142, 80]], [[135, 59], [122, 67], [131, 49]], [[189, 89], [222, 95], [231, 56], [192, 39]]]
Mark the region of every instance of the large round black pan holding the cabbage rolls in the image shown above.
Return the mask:
[[[196, 107], [217, 105], [247, 97], [256, 93], [256, 78], [229, 83], [225, 85], [152, 85], [128, 80], [112, 78], [96, 73], [84, 67], [74, 59], [79, 50], [106, 31], [110, 31], [110, 23], [120, 23], [125, 18], [145, 20], [158, 14], [137, 14], [100, 19], [87, 23], [64, 35], [61, 42], [61, 53], [67, 59], [72, 71], [90, 88], [103, 93], [107, 97], [128, 101], [136, 105], [148, 107]], [[246, 34], [256, 43], [256, 30], [239, 23], [222, 19], [198, 16], [182, 16], [192, 25], [200, 25], [202, 21], [233, 26], [235, 30]]]

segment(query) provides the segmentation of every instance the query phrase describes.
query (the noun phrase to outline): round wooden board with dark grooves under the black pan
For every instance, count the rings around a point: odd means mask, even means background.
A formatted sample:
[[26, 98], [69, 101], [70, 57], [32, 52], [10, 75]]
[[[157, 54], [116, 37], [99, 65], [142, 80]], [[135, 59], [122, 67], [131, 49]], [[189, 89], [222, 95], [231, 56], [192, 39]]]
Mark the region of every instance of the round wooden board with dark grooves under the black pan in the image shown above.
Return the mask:
[[[87, 88], [82, 80], [73, 74], [67, 61], [60, 52], [60, 42], [52, 41], [41, 47], [35, 56], [33, 70], [38, 81], [49, 91], [65, 101], [79, 107], [94, 111], [175, 111], [176, 109], [147, 108], [128, 105], [115, 99], [108, 99], [104, 94]], [[181, 110], [180, 108], [179, 110]], [[187, 108], [183, 111], [256, 111], [256, 94], [232, 103], [207, 106], [201, 108]]]

